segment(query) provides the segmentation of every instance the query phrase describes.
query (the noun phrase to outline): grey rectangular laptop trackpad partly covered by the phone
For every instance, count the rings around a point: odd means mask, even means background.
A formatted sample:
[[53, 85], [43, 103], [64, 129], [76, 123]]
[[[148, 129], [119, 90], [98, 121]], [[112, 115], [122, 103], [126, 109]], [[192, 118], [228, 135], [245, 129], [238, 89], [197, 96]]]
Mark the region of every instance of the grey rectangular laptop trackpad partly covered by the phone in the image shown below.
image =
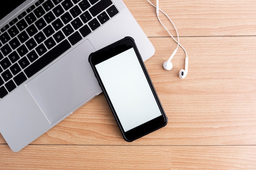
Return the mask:
[[88, 62], [94, 51], [90, 41], [85, 40], [26, 84], [50, 124], [72, 113], [100, 91]]

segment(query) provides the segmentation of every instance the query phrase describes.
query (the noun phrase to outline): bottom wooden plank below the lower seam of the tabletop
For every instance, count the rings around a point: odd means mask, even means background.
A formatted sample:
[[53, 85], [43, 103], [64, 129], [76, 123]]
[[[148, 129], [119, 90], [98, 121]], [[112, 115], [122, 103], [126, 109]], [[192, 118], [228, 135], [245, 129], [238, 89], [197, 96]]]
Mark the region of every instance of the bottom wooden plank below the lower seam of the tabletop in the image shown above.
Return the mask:
[[254, 170], [255, 146], [44, 146], [11, 153], [3, 170]]

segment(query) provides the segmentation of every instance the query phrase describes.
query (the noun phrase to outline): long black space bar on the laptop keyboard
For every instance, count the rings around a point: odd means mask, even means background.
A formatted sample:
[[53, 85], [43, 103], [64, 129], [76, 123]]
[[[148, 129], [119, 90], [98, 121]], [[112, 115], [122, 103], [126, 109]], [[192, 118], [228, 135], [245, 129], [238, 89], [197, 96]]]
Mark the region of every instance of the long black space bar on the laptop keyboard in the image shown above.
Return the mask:
[[38, 71], [40, 71], [42, 68], [47, 66], [49, 63], [51, 63], [53, 60], [58, 58], [61, 54], [63, 54], [65, 51], [70, 49], [71, 45], [67, 40], [64, 40], [60, 44], [58, 44], [56, 47], [45, 53], [42, 57], [40, 57], [36, 62], [31, 64], [28, 68], [24, 70], [27, 77], [31, 77], [34, 74], [36, 74]]

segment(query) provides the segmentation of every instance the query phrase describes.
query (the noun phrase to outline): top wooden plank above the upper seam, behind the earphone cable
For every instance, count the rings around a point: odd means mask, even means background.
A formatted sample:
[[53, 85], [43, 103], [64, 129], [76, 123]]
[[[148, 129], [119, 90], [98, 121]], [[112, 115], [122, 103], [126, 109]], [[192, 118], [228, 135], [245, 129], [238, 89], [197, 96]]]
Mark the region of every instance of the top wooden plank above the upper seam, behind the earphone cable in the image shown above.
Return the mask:
[[[169, 36], [158, 22], [155, 8], [147, 0], [124, 0], [132, 15], [149, 37]], [[155, 4], [155, 0], [151, 0]], [[180, 36], [256, 35], [254, 0], [159, 0], [162, 9], [175, 23]], [[160, 18], [176, 36], [168, 19]]]

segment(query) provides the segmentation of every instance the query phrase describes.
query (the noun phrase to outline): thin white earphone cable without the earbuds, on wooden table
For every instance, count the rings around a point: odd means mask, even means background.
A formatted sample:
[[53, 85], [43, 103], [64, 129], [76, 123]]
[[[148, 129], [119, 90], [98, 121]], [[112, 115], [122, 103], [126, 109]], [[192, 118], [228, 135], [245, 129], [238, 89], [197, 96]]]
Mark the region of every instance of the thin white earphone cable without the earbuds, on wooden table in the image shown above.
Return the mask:
[[[158, 4], [157, 4], [157, 6], [155, 6], [155, 5], [154, 5], [152, 2], [150, 2], [149, 0], [148, 0], [148, 2], [149, 2], [153, 7], [155, 7], [155, 8], [157, 9], [157, 18], [158, 18], [159, 22], [162, 24], [162, 26], [164, 27], [164, 29], [166, 29], [166, 31], [167, 31], [168, 34], [171, 36], [171, 38], [173, 38], [173, 40], [177, 43], [177, 48], [176, 48], [175, 50], [177, 50], [178, 47], [180, 46], [180, 47], [183, 49], [183, 51], [185, 52], [186, 58], [187, 58], [188, 55], [187, 55], [186, 50], [184, 49], [184, 47], [180, 44], [180, 38], [179, 38], [178, 31], [177, 31], [176, 26], [174, 25], [173, 21], [171, 20], [171, 18], [170, 18], [164, 11], [162, 11], [161, 9], [158, 8]], [[175, 38], [174, 38], [173, 35], [170, 33], [170, 31], [168, 31], [168, 29], [166, 28], [166, 26], [164, 26], [164, 24], [162, 23], [162, 21], [161, 21], [160, 18], [159, 18], [158, 11], [161, 11], [161, 12], [168, 18], [168, 20], [172, 23], [172, 25], [173, 25], [173, 27], [174, 27], [174, 29], [175, 29], [175, 31], [176, 31], [177, 39], [178, 39], [178, 40], [175, 40]]]

